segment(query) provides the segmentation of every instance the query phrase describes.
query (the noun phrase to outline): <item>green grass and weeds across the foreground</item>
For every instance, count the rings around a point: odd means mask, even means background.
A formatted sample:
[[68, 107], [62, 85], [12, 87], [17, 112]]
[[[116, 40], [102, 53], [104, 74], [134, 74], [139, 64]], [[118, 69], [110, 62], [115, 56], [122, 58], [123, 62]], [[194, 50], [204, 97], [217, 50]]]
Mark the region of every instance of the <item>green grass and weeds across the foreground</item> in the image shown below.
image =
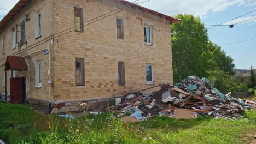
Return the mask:
[[111, 112], [73, 121], [44, 117], [26, 104], [0, 103], [0, 137], [9, 143], [248, 143], [246, 133], [256, 133], [256, 110], [244, 116], [237, 121], [156, 116], [124, 124]]

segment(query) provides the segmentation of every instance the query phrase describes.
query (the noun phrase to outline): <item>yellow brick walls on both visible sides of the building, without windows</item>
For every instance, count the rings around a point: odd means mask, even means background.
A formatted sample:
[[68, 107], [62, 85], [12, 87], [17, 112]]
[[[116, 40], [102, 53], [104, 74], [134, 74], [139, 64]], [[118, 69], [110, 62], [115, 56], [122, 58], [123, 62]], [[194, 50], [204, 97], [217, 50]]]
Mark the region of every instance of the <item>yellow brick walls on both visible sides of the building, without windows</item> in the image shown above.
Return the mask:
[[[7, 41], [7, 53], [1, 58], [18, 51], [18, 46], [11, 50], [11, 28], [24, 17], [25, 13], [30, 14], [31, 20], [26, 23], [27, 46], [22, 46], [21, 51], [27, 51], [18, 53], [16, 56], [24, 56], [44, 49], [48, 43], [31, 50], [28, 50], [30, 49], [28, 46], [53, 33], [74, 27], [75, 5], [83, 7], [84, 22], [122, 6], [114, 0], [37, 0], [34, 3], [30, 2], [15, 20], [9, 22], [1, 31], [0, 39], [5, 35]], [[33, 14], [37, 9], [41, 9], [42, 13], [42, 38], [35, 40]], [[115, 21], [117, 16], [123, 17], [124, 39], [117, 39]], [[144, 20], [154, 23], [154, 45], [142, 43], [144, 41], [142, 21]], [[61, 37], [57, 35], [55, 35], [53, 44], [49, 44], [52, 52], [50, 55], [51, 81], [53, 82], [51, 97], [57, 102], [120, 96], [159, 83], [173, 83], [170, 20], [166, 20], [165, 17], [131, 7], [117, 15], [85, 26], [84, 32], [73, 31]], [[48, 101], [49, 55], [44, 55], [42, 51], [25, 58], [29, 68], [17, 72], [17, 76], [28, 77], [27, 98]], [[75, 58], [84, 58], [85, 86], [75, 85]], [[37, 59], [42, 61], [42, 88], [34, 87], [34, 62]], [[125, 86], [118, 85], [119, 61], [125, 63]], [[0, 64], [2, 73], [5, 60], [0, 61]], [[153, 65], [155, 84], [146, 84], [146, 64]], [[9, 77], [10, 74], [8, 79]], [[0, 90], [4, 92], [2, 78], [1, 76]]]

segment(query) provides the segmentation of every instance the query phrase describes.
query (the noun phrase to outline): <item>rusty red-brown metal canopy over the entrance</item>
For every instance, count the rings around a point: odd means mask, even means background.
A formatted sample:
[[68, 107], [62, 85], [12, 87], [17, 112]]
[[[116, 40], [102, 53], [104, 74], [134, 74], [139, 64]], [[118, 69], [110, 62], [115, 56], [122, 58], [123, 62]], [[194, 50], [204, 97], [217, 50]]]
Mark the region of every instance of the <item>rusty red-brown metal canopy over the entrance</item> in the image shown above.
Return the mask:
[[8, 56], [4, 70], [26, 70], [27, 63], [24, 57]]

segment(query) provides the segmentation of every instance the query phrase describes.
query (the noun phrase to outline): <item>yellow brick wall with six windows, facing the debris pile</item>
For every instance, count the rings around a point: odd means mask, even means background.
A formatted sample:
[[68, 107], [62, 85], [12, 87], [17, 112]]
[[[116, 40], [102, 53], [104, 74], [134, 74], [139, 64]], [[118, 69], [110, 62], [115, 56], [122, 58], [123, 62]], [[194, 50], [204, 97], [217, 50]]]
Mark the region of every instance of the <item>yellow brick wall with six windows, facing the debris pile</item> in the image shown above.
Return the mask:
[[[54, 33], [74, 27], [74, 5], [82, 5], [84, 22], [121, 7], [113, 0], [55, 0]], [[117, 39], [115, 19], [124, 20], [124, 39]], [[112, 97], [172, 83], [170, 21], [138, 8], [121, 11], [55, 39], [54, 99]], [[153, 43], [142, 47], [142, 20], [154, 22]], [[75, 57], [85, 59], [85, 86], [75, 86]], [[118, 61], [125, 62], [125, 86], [118, 85]], [[146, 85], [146, 63], [154, 64], [155, 85]]]

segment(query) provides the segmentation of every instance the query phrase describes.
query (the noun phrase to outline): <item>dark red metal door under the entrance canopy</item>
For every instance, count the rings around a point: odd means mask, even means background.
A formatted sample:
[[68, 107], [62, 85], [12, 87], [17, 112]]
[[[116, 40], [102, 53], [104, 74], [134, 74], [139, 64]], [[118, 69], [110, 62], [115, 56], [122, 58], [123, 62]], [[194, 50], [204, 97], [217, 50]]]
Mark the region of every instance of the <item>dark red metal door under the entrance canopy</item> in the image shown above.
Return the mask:
[[22, 77], [10, 78], [10, 102], [23, 103], [23, 91]]

